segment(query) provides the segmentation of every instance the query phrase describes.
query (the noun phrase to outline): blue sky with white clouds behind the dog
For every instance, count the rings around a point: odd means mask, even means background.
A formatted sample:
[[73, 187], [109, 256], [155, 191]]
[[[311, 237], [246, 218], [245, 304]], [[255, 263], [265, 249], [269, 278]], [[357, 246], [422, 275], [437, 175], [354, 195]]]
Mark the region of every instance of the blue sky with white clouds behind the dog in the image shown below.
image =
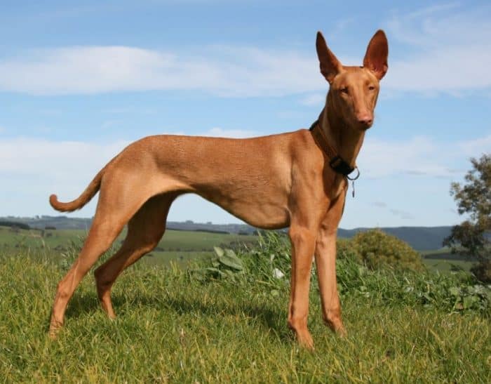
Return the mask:
[[[341, 226], [452, 225], [469, 158], [491, 152], [487, 1], [2, 1], [0, 216], [56, 215], [133, 140], [307, 128], [328, 84], [315, 37], [361, 65], [379, 28], [389, 72]], [[95, 200], [76, 217], [90, 217]], [[198, 197], [170, 220], [234, 223]]]

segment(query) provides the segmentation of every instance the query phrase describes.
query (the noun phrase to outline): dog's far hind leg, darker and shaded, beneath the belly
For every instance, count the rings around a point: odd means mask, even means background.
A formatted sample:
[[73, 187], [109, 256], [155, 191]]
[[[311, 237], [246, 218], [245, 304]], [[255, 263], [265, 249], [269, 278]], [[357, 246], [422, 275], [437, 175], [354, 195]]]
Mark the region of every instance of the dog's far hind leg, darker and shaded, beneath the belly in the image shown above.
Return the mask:
[[152, 251], [166, 230], [167, 214], [175, 194], [161, 194], [150, 198], [128, 223], [128, 234], [112, 258], [95, 270], [97, 295], [102, 309], [116, 317], [111, 301], [111, 289], [116, 278], [127, 267]]

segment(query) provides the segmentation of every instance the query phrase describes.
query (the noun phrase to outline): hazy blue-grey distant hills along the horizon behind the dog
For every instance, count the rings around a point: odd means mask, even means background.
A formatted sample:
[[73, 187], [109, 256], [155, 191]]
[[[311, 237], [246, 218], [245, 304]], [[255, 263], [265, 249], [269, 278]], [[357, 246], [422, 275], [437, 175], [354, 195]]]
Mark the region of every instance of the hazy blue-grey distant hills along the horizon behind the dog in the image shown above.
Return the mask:
[[[8, 216], [0, 218], [0, 221], [9, 223], [23, 223], [32, 228], [44, 229], [55, 227], [60, 230], [88, 230], [92, 223], [91, 218], [69, 218], [67, 216], [36, 216], [34, 218], [20, 218]], [[256, 231], [255, 227], [247, 224], [213, 224], [213, 223], [194, 223], [191, 220], [184, 222], [168, 221], [167, 227], [170, 230], [187, 231], [208, 231], [208, 232], [228, 232], [238, 234], [252, 234]], [[339, 228], [338, 236], [351, 238], [358, 232], [367, 231], [370, 228], [355, 228], [353, 230], [343, 230]], [[399, 239], [406, 241], [417, 251], [430, 251], [440, 249], [442, 241], [450, 234], [452, 227], [382, 227], [380, 230], [392, 234]]]

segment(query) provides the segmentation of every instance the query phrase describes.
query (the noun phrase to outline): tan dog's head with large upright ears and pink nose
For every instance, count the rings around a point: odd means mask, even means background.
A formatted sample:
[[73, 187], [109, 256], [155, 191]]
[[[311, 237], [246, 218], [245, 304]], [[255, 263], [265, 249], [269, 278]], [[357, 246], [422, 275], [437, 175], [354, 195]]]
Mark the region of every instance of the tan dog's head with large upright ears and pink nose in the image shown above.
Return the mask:
[[379, 94], [379, 81], [387, 72], [389, 45], [379, 29], [368, 44], [363, 67], [347, 67], [330, 51], [321, 32], [316, 49], [321, 73], [330, 84], [328, 102], [339, 119], [352, 128], [365, 131], [373, 124], [373, 111]]

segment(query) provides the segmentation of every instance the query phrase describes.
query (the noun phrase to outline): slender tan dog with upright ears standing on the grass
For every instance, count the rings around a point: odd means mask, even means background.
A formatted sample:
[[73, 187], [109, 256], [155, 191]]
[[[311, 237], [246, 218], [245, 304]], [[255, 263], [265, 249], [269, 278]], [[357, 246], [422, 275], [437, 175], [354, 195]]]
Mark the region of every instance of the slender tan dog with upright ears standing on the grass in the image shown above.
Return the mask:
[[100, 190], [97, 211], [79, 258], [58, 284], [51, 335], [62, 326], [76, 286], [128, 223], [121, 249], [95, 270], [97, 293], [114, 317], [116, 277], [154, 249], [166, 230], [170, 204], [193, 192], [255, 227], [290, 227], [292, 276], [288, 325], [300, 345], [313, 346], [307, 329], [311, 264], [315, 255], [323, 319], [344, 333], [336, 286], [336, 232], [365, 131], [372, 126], [379, 80], [387, 70], [388, 46], [379, 30], [363, 67], [344, 67], [318, 32], [321, 73], [330, 84], [311, 130], [260, 138], [228, 139], [156, 135], [129, 145], [109, 162], [81, 196], [60, 203], [74, 211]]

